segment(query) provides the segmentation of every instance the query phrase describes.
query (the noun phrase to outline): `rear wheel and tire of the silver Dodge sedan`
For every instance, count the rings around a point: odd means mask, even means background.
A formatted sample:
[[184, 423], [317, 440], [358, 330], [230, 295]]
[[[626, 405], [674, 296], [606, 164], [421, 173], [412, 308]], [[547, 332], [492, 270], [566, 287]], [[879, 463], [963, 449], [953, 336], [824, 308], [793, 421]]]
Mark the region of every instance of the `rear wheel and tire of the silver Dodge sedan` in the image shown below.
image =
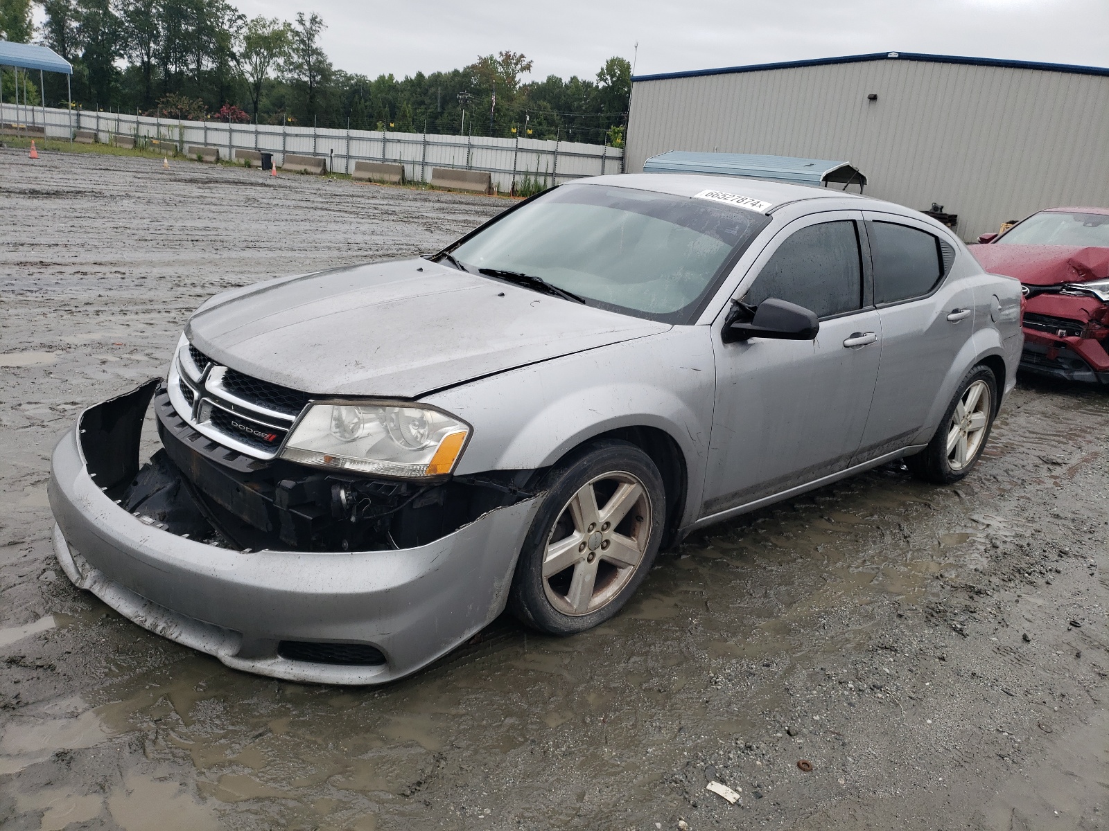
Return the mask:
[[989, 440], [997, 403], [997, 378], [989, 367], [979, 363], [963, 379], [928, 447], [905, 460], [909, 473], [935, 484], [966, 478]]

